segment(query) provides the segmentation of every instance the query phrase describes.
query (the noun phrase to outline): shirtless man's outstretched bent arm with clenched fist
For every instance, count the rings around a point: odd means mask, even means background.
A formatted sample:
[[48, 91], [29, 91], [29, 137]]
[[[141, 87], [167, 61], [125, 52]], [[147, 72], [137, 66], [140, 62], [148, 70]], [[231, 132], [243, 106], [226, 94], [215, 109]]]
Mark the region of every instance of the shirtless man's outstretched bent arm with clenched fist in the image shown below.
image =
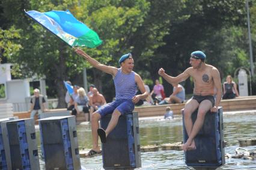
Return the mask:
[[191, 68], [187, 68], [187, 70], [185, 70], [183, 73], [181, 73], [177, 77], [169, 76], [168, 74], [165, 73], [165, 70], [163, 70], [163, 68], [159, 69], [158, 74], [162, 76], [169, 83], [179, 83], [186, 80], [190, 76], [189, 69]]

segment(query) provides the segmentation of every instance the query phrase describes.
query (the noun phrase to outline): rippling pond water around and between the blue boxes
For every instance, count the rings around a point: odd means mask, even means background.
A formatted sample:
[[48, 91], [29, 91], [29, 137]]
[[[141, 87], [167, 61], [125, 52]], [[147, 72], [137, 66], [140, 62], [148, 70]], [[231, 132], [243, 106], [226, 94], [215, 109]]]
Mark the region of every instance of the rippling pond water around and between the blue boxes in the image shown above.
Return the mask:
[[[91, 127], [89, 124], [77, 126], [79, 149], [90, 150]], [[166, 144], [183, 141], [181, 115], [174, 120], [143, 118], [139, 120], [141, 146]], [[225, 153], [235, 154], [239, 147], [238, 139], [256, 138], [256, 112], [227, 114], [224, 113], [224, 139], [227, 141]], [[256, 146], [243, 147], [249, 151]], [[138, 169], [188, 169], [184, 163], [183, 151], [154, 151], [141, 153], [142, 168]], [[43, 167], [43, 162], [40, 162]], [[81, 158], [85, 169], [103, 169], [102, 156]], [[256, 160], [226, 159], [226, 164], [218, 169], [256, 169]]]

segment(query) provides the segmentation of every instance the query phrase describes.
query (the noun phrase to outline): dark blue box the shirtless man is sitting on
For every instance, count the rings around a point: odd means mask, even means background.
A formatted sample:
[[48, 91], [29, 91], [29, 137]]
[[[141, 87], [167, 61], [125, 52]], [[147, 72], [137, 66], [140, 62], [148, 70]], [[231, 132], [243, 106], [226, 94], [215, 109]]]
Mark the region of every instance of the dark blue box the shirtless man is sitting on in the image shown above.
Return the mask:
[[[196, 110], [192, 114], [193, 124], [197, 119]], [[187, 141], [186, 128], [183, 115], [183, 138]], [[223, 137], [223, 111], [207, 112], [203, 127], [195, 137], [196, 150], [185, 152], [186, 165], [193, 167], [218, 167], [225, 164], [224, 137]]]

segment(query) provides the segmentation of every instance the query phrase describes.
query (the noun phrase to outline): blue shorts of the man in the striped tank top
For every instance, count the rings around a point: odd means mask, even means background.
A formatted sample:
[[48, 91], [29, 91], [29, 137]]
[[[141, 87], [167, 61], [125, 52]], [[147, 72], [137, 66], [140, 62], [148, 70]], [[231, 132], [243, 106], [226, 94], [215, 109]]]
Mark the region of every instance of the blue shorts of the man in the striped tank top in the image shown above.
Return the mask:
[[121, 114], [130, 113], [134, 109], [134, 103], [132, 100], [115, 100], [99, 108], [97, 111], [101, 117], [107, 114], [112, 114], [117, 109]]

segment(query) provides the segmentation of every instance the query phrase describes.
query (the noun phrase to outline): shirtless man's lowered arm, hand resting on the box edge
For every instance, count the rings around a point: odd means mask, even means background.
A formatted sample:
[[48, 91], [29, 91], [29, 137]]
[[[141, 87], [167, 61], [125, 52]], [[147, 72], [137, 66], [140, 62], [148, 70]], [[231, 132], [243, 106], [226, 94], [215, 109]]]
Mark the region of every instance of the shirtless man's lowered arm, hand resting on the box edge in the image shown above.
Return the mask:
[[215, 106], [212, 108], [212, 112], [216, 112], [219, 106], [219, 103], [221, 102], [221, 96], [222, 96], [222, 85], [221, 85], [221, 76], [219, 75], [219, 71], [217, 68], [213, 68], [213, 82], [215, 83], [215, 87], [217, 90], [216, 94], [216, 102]]

